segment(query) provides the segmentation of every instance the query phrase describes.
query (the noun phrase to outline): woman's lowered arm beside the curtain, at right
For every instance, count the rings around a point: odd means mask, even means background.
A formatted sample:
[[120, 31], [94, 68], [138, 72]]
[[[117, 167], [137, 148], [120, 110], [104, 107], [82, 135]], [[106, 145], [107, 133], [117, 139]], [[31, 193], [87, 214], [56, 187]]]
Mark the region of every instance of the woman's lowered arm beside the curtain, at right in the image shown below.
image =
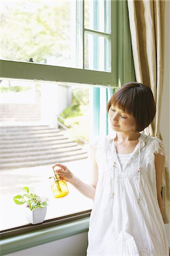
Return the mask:
[[155, 170], [156, 170], [156, 188], [157, 188], [157, 200], [161, 214], [163, 214], [163, 201], [161, 197], [161, 181], [164, 170], [165, 157], [160, 154], [155, 154]]

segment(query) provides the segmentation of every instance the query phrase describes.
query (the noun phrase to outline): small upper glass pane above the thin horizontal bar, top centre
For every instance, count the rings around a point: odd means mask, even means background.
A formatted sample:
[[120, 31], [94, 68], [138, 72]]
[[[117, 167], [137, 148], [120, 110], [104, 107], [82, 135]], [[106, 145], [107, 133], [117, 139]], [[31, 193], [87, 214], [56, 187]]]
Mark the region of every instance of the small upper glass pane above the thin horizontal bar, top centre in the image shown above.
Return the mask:
[[111, 3], [106, 0], [85, 0], [85, 28], [110, 34]]

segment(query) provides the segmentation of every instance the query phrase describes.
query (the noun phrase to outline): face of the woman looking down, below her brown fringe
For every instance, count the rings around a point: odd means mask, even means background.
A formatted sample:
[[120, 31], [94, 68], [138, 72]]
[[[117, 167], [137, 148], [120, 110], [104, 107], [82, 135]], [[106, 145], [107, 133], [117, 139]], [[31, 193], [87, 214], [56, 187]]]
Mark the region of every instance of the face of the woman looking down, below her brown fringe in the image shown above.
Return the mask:
[[133, 115], [123, 112], [116, 106], [111, 105], [109, 109], [111, 128], [114, 131], [135, 131], [135, 118]]

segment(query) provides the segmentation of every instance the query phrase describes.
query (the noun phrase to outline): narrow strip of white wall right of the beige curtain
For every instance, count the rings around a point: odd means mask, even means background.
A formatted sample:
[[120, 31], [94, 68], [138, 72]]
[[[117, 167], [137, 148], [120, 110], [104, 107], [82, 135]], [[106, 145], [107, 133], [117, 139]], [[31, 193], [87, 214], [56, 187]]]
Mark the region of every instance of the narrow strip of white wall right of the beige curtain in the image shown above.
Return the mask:
[[[170, 115], [169, 115], [169, 101], [170, 101], [170, 2], [165, 1], [165, 60], [164, 60], [164, 89], [163, 101], [160, 119], [160, 132], [163, 137], [163, 142], [167, 155], [170, 154]], [[170, 223], [165, 224], [167, 231], [169, 246], [170, 246]]]

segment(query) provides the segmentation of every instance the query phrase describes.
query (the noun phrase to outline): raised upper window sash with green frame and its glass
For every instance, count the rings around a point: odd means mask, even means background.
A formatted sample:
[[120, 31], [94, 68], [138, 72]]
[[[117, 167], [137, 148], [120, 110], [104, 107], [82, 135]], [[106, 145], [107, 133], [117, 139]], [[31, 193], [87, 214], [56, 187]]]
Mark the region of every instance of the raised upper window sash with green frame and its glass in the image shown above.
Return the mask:
[[105, 0], [1, 2], [1, 77], [117, 85], [116, 5]]

